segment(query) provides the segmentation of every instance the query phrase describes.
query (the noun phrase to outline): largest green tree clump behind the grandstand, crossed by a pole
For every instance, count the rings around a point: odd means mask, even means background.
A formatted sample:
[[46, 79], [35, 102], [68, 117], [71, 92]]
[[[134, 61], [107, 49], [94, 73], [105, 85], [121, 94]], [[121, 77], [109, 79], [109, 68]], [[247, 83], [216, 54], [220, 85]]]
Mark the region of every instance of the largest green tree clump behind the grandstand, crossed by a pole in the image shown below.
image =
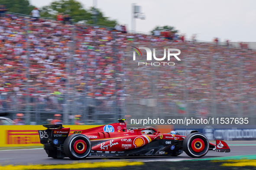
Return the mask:
[[[104, 17], [103, 13], [97, 10], [97, 25], [114, 27], [117, 21]], [[82, 4], [76, 0], [58, 0], [52, 2], [49, 6], [44, 6], [40, 11], [42, 17], [56, 18], [58, 13], [68, 14], [74, 22], [87, 21], [88, 24], [94, 24], [92, 12], [94, 8], [86, 10]]]

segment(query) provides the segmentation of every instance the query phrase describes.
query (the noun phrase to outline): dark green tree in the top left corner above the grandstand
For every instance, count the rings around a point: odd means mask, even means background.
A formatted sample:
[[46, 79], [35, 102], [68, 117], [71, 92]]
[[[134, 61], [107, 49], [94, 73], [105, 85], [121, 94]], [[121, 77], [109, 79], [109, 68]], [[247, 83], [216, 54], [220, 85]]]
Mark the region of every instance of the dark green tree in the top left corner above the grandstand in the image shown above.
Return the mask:
[[29, 15], [35, 8], [29, 4], [28, 0], [0, 0], [1, 5], [6, 5], [8, 12]]

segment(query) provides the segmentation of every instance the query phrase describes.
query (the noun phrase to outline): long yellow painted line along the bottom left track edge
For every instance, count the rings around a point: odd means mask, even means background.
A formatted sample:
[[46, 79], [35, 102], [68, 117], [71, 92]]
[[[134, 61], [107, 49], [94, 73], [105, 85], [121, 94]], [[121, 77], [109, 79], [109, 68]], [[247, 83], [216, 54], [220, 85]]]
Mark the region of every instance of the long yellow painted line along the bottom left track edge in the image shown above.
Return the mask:
[[80, 169], [80, 168], [107, 168], [107, 167], [125, 167], [125, 166], [140, 166], [143, 162], [94, 162], [94, 163], [73, 163], [73, 164], [58, 164], [58, 165], [7, 165], [0, 166], [3, 170], [54, 170], [54, 169]]

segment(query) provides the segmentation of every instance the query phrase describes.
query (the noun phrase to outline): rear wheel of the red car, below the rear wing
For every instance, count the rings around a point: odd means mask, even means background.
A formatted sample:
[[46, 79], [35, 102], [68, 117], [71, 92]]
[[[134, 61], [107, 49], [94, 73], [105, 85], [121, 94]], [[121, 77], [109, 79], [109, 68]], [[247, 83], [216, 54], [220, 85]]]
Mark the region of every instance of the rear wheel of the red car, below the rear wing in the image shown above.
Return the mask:
[[83, 134], [70, 135], [64, 142], [63, 151], [70, 159], [84, 159], [91, 152], [90, 139]]

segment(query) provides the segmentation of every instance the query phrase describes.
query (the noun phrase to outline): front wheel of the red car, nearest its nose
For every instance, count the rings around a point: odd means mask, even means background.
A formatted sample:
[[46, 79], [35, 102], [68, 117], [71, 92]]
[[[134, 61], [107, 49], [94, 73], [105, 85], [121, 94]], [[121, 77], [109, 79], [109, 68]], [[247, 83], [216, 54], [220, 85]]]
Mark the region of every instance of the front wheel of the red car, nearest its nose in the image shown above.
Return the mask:
[[183, 141], [183, 151], [190, 157], [203, 157], [209, 146], [207, 137], [202, 133], [190, 133]]

